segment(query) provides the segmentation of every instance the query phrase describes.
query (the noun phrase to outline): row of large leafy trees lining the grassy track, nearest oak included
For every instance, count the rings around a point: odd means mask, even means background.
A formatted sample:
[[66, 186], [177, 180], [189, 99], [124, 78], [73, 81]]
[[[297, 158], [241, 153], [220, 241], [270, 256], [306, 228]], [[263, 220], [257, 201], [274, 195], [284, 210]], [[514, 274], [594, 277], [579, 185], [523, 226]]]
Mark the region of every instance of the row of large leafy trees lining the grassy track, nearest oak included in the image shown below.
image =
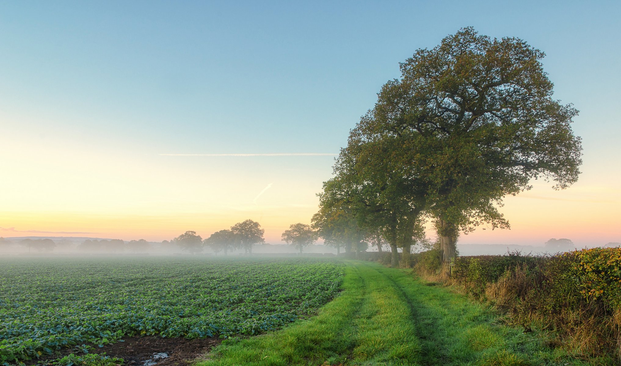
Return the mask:
[[350, 131], [324, 182], [313, 225], [326, 244], [357, 251], [385, 241], [392, 266], [430, 221], [446, 263], [460, 233], [509, 228], [498, 208], [532, 179], [577, 181], [578, 111], [553, 99], [544, 53], [519, 38], [461, 29], [400, 64]]

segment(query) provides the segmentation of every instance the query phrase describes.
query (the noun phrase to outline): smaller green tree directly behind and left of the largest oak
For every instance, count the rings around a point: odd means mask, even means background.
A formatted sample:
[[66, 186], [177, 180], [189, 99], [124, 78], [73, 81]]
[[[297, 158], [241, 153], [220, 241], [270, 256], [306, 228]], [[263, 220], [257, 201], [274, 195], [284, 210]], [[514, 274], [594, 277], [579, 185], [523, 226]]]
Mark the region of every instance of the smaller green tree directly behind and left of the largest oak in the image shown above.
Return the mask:
[[422, 230], [427, 183], [411, 171], [410, 150], [404, 148], [409, 141], [369, 129], [375, 124], [369, 112], [351, 130], [334, 167], [334, 191], [354, 208], [358, 225], [386, 239], [391, 266], [399, 266], [397, 248], [402, 248], [407, 267], [410, 248]]

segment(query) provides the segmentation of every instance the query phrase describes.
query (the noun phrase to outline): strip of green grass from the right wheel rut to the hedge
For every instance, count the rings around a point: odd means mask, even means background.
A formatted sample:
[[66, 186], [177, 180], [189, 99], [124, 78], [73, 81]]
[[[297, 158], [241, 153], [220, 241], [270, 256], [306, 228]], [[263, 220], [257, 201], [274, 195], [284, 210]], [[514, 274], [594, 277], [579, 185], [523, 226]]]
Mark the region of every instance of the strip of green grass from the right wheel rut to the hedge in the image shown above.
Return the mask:
[[401, 288], [414, 313], [423, 365], [587, 365], [543, 345], [535, 333], [494, 323], [487, 306], [415, 279], [406, 270], [379, 269]]

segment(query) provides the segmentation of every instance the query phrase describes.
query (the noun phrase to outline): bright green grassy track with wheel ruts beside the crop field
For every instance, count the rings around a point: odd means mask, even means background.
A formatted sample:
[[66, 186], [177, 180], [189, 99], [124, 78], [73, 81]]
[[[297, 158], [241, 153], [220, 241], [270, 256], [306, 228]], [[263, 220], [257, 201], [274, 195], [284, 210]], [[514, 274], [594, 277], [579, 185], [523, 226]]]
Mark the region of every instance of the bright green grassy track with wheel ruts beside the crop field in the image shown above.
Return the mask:
[[589, 365], [405, 270], [351, 261], [342, 290], [315, 318], [227, 340], [198, 365]]

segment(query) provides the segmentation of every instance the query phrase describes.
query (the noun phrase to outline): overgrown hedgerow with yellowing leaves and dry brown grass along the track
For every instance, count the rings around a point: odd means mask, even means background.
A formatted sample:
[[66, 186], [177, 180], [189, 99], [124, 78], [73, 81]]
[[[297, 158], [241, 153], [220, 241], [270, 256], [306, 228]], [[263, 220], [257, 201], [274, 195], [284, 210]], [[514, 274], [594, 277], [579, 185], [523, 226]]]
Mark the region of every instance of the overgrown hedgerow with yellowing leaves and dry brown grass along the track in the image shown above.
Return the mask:
[[554, 331], [578, 353], [621, 357], [621, 248], [458, 257], [448, 282], [527, 329], [538, 324]]

